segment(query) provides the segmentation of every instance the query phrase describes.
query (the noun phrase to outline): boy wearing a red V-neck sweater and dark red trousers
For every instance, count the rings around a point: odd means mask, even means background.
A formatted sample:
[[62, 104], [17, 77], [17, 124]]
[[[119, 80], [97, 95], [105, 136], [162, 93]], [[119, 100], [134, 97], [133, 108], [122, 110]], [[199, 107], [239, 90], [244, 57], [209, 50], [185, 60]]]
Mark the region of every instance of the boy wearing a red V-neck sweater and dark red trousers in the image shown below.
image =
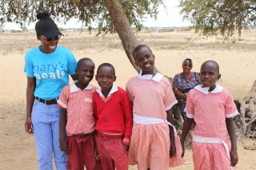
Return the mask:
[[130, 144], [132, 111], [124, 89], [114, 85], [114, 66], [98, 66], [96, 81], [101, 89], [93, 94], [96, 142], [104, 170], [128, 170], [127, 148]]

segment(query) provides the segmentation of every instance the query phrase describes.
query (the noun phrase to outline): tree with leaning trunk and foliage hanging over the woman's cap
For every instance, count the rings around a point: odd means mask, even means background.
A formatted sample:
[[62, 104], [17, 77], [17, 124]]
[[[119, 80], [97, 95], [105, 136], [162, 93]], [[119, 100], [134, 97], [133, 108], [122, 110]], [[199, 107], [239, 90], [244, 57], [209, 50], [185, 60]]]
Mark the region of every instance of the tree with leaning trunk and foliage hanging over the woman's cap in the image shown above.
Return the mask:
[[141, 30], [143, 19], [157, 18], [158, 7], [163, 5], [163, 0], [2, 0], [0, 23], [16, 22], [24, 27], [36, 21], [39, 11], [47, 10], [63, 22], [78, 18], [89, 30], [96, 24], [98, 34], [118, 34], [130, 63], [138, 71], [132, 51], [139, 43], [130, 26]]

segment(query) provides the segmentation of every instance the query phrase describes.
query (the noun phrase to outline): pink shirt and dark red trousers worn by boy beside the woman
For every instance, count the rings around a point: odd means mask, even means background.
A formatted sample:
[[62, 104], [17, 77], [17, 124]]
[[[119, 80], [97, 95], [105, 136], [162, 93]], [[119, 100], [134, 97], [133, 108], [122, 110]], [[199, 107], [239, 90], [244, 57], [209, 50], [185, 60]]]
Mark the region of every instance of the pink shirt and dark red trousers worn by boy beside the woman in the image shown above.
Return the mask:
[[90, 84], [83, 90], [75, 84], [66, 85], [58, 99], [58, 105], [67, 111], [67, 168], [71, 170], [83, 170], [84, 166], [88, 170], [98, 169], [94, 156], [95, 121], [92, 105], [95, 90]]

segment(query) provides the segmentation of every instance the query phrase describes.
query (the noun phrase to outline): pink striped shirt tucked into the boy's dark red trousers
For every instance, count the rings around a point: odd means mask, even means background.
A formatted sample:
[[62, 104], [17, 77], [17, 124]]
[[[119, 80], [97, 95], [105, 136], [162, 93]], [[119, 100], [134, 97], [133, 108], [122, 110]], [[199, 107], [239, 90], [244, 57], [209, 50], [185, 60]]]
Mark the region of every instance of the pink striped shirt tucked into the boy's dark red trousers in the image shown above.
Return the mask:
[[93, 93], [96, 88], [87, 85], [79, 89], [75, 84], [66, 85], [58, 99], [58, 105], [67, 111], [66, 134], [68, 136], [94, 131]]

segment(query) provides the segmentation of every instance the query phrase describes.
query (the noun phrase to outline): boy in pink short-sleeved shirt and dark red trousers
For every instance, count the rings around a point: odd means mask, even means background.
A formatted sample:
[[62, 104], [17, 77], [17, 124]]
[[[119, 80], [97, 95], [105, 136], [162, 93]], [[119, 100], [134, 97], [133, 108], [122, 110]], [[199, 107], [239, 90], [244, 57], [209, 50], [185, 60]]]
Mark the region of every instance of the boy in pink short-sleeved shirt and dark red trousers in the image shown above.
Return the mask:
[[[70, 170], [102, 169], [94, 156], [94, 113], [93, 93], [96, 88], [90, 85], [94, 77], [94, 61], [82, 58], [78, 61], [76, 74], [78, 82], [66, 85], [58, 99], [61, 107], [59, 120], [59, 142], [62, 151], [68, 156]], [[66, 140], [65, 140], [66, 127]]]

